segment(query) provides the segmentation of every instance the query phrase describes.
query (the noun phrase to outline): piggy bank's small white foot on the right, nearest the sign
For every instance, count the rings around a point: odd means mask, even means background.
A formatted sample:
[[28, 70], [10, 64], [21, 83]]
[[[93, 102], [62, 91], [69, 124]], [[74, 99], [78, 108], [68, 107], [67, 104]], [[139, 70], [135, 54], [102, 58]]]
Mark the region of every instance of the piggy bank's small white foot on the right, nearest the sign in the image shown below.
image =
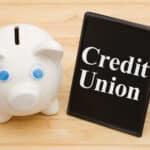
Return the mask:
[[44, 110], [42, 111], [45, 115], [54, 115], [58, 112], [59, 109], [59, 102], [57, 99], [54, 99], [52, 103]]

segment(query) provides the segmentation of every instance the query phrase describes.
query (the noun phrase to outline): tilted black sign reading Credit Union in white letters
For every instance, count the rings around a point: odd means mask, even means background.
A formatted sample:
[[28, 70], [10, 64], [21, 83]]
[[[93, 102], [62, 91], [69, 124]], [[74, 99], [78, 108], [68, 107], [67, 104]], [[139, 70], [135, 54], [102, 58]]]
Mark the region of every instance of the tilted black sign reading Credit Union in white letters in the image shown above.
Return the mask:
[[141, 136], [150, 95], [150, 28], [85, 14], [68, 114]]

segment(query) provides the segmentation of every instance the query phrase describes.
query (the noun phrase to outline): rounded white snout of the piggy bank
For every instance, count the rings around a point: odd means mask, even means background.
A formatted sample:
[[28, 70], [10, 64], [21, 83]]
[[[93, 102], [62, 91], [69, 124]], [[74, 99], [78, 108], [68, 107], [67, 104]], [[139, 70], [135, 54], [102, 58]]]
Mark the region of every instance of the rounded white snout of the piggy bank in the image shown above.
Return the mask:
[[20, 83], [10, 90], [8, 103], [13, 111], [28, 112], [38, 105], [38, 89], [34, 84]]

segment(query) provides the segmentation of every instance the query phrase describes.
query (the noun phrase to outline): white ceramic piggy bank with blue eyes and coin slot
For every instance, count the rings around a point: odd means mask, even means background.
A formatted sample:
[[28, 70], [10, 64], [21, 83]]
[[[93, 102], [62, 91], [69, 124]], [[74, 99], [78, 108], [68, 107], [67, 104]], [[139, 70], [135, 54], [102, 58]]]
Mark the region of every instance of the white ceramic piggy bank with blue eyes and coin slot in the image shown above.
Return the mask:
[[30, 24], [0, 28], [0, 122], [59, 109], [63, 50], [47, 32]]

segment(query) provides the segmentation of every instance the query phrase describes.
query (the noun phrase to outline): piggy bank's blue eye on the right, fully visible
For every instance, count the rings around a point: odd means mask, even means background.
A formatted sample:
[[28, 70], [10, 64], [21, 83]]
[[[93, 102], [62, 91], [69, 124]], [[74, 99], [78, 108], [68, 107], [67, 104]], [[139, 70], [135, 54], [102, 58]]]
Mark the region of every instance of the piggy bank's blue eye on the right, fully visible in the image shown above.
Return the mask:
[[40, 67], [37, 67], [37, 68], [34, 68], [33, 71], [32, 71], [32, 76], [35, 78], [35, 79], [42, 79], [43, 76], [44, 76], [44, 72], [43, 72], [43, 69], [40, 68]]

